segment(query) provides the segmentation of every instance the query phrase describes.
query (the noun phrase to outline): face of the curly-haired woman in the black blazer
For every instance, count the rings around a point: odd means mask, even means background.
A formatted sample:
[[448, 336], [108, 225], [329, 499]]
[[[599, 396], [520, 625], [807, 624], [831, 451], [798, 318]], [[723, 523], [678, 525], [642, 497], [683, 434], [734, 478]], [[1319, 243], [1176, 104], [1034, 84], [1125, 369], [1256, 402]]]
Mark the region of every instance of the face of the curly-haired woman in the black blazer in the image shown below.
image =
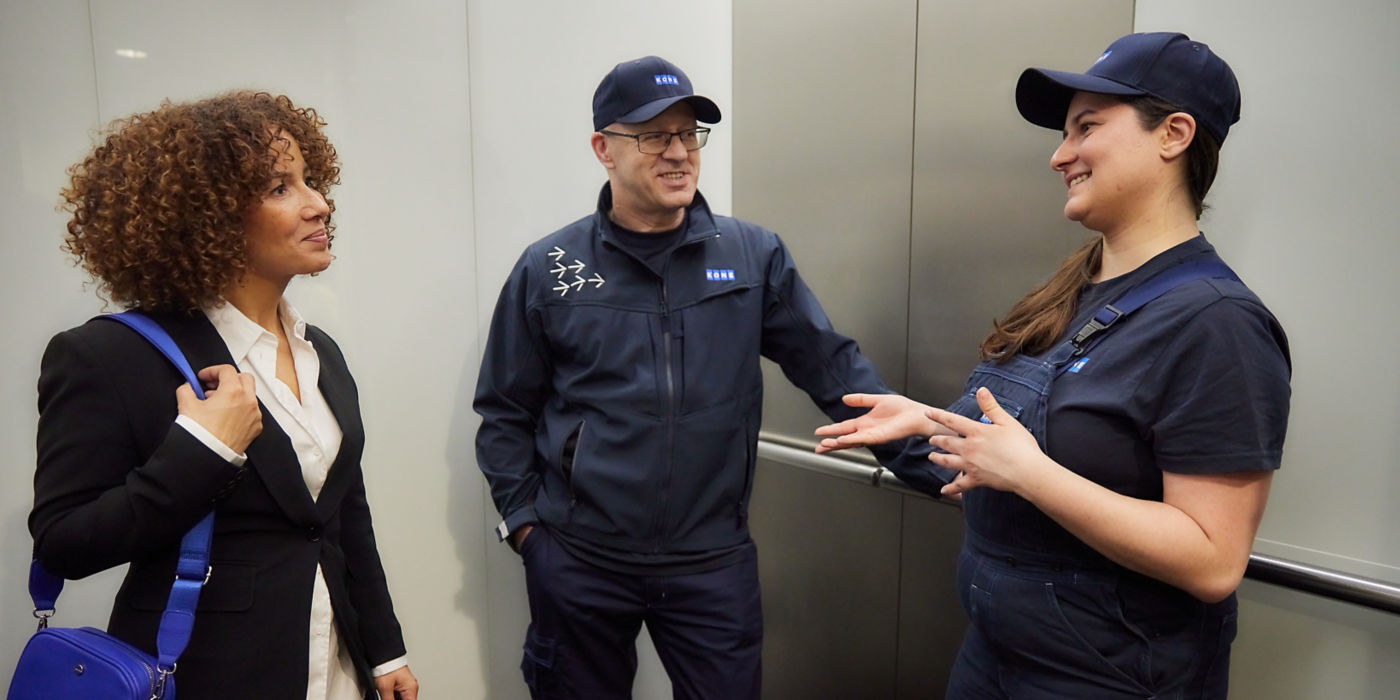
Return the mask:
[[[274, 141], [273, 167], [262, 199], [244, 216], [248, 274], [286, 287], [293, 277], [330, 266], [330, 207], [307, 183], [307, 161], [297, 140], [286, 132]], [[248, 280], [245, 280], [248, 281]]]

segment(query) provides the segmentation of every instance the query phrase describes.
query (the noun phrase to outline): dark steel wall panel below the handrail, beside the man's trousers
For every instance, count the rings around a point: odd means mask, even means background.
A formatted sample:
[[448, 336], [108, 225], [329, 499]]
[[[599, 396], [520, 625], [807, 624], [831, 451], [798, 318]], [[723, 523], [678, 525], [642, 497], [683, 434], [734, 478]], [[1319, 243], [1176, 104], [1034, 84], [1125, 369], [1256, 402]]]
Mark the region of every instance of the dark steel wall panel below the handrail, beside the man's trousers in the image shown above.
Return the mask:
[[763, 697], [893, 697], [903, 498], [759, 463]]

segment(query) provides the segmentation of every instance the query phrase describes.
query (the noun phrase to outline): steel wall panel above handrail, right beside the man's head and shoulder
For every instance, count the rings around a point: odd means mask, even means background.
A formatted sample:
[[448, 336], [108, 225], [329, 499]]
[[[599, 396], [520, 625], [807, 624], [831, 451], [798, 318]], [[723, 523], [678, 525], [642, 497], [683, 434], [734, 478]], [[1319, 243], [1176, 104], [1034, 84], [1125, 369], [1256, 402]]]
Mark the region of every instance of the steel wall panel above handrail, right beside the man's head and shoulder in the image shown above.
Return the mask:
[[[914, 0], [734, 6], [735, 216], [778, 232], [836, 329], [904, 385]], [[773, 365], [764, 427], [825, 416]]]

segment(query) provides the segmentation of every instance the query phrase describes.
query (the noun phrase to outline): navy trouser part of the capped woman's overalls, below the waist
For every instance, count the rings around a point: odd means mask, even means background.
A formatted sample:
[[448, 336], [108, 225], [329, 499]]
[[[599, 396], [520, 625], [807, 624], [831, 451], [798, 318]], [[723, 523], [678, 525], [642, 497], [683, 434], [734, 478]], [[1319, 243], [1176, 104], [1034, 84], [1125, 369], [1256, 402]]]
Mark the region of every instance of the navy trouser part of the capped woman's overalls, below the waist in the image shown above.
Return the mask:
[[1224, 700], [1235, 613], [1142, 624], [1131, 574], [990, 543], [969, 532], [958, 589], [970, 624], [949, 700]]

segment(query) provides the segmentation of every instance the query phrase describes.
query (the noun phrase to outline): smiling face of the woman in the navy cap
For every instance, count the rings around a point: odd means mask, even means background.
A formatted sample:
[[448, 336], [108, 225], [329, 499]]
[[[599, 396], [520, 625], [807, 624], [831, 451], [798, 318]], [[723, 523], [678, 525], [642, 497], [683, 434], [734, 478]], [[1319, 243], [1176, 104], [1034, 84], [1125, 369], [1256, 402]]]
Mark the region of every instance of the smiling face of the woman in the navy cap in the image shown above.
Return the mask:
[[1155, 132], [1114, 97], [1075, 94], [1050, 157], [1068, 190], [1065, 218], [1103, 232], [1140, 217], [1166, 175]]

